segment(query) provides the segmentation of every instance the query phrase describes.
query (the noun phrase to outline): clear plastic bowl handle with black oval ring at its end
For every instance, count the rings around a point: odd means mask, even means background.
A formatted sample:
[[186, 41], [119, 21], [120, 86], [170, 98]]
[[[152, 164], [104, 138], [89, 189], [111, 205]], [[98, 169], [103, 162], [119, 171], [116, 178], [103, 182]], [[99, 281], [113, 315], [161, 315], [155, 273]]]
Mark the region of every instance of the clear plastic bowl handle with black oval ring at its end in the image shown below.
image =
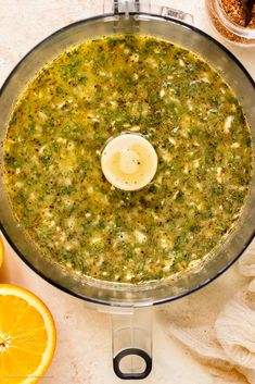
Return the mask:
[[152, 370], [152, 307], [112, 313], [113, 369], [119, 379], [145, 379]]

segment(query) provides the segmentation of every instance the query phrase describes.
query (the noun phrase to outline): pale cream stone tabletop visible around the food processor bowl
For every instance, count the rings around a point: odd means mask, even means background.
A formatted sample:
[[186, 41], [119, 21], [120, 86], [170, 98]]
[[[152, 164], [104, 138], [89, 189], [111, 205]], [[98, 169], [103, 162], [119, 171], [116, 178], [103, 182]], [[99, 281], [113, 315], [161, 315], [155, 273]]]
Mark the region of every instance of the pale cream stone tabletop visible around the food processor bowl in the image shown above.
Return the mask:
[[[209, 25], [203, 0], [165, 0], [160, 3], [192, 13], [195, 26], [226, 45], [255, 77], [255, 50], [226, 42]], [[0, 0], [0, 86], [18, 60], [41, 39], [62, 26], [100, 12], [102, 1], [97, 0]], [[88, 309], [85, 301], [51, 286], [26, 267], [7, 243], [5, 249], [0, 281], [33, 290], [47, 304], [56, 322], [58, 347], [41, 383], [120, 383], [112, 370], [110, 315]], [[233, 271], [234, 267], [219, 277], [226, 281], [226, 289]], [[204, 368], [178, 342], [166, 335], [165, 327], [156, 319], [153, 344], [153, 371], [144, 384], [214, 384]]]

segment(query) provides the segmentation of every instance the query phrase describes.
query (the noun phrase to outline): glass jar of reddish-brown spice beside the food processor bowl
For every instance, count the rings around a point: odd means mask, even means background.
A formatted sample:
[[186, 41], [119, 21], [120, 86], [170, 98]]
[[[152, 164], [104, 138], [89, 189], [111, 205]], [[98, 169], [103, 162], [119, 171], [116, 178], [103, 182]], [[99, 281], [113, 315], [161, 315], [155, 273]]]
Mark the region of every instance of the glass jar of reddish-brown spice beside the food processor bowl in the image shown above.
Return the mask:
[[245, 27], [241, 0], [206, 0], [206, 9], [215, 28], [239, 46], [255, 46], [255, 13]]

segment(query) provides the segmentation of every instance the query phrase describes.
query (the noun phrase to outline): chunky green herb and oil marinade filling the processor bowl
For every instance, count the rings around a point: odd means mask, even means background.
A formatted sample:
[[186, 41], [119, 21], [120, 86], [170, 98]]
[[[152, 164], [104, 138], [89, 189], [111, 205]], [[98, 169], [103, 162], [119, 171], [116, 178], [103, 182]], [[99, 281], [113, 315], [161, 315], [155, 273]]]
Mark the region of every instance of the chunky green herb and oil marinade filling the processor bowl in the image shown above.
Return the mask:
[[[104, 144], [123, 132], [155, 148], [153, 181], [113, 187]], [[234, 228], [252, 177], [239, 101], [194, 53], [146, 36], [86, 41], [28, 84], [9, 124], [4, 174], [13, 211], [41, 253], [115, 283], [174, 276]]]

